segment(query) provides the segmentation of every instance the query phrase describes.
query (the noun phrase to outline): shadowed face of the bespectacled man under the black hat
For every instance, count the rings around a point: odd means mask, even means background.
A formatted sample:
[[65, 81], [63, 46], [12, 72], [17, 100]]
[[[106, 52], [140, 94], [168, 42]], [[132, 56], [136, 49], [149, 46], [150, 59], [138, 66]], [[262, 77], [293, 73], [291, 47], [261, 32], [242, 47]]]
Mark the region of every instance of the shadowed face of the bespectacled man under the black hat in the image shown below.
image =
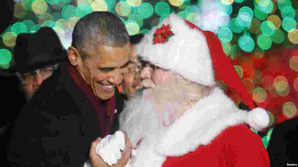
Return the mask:
[[55, 64], [31, 71], [29, 73], [18, 74], [27, 101], [31, 99], [41, 83], [46, 78], [51, 76], [53, 71], [57, 69], [57, 67], [58, 64]]

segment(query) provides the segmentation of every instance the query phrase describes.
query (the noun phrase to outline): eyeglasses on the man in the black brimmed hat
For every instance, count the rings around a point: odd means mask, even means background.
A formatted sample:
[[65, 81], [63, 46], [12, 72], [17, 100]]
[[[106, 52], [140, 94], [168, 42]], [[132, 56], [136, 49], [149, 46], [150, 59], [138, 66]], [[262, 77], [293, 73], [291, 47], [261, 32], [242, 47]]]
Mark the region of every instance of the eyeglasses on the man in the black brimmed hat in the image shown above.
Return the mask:
[[58, 65], [59, 64], [46, 66], [44, 68], [37, 69], [37, 70], [31, 71], [29, 73], [23, 73], [23, 74], [17, 73], [17, 76], [24, 85], [33, 83], [37, 74], [40, 74], [42, 77], [46, 78], [46, 77], [52, 75], [53, 71], [58, 68]]

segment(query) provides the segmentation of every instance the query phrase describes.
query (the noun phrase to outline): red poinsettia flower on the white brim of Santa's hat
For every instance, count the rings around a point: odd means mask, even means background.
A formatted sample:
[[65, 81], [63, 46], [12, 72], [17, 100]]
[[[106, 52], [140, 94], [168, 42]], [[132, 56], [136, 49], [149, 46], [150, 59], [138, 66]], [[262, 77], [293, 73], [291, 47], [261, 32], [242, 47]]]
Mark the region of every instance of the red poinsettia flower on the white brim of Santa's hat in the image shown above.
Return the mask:
[[173, 31], [170, 30], [170, 24], [168, 24], [167, 26], [163, 24], [161, 28], [156, 29], [153, 37], [153, 43], [165, 43], [166, 41], [168, 41], [168, 37], [171, 37], [173, 35]]

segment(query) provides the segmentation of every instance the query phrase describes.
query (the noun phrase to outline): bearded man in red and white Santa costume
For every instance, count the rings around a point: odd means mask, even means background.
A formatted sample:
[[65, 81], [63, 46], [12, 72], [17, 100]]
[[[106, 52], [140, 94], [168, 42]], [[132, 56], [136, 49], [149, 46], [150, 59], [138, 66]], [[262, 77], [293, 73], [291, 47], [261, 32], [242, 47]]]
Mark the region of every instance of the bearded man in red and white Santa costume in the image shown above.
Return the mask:
[[[145, 35], [136, 54], [147, 62], [141, 71], [147, 89], [119, 118], [131, 141], [126, 166], [270, 166], [261, 138], [249, 129], [268, 126], [268, 114], [254, 108], [214, 33], [171, 14]], [[252, 110], [240, 110], [216, 80]], [[116, 133], [95, 141], [91, 158], [96, 152], [109, 165], [117, 163], [125, 142]]]

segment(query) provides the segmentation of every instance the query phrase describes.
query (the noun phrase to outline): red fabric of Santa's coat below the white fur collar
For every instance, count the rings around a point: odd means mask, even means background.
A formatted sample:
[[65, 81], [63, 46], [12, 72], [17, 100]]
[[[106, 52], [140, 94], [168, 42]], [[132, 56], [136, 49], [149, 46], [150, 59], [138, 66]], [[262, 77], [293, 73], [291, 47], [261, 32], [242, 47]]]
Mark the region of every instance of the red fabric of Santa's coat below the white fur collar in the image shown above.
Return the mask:
[[194, 152], [180, 157], [167, 157], [162, 165], [162, 167], [175, 166], [269, 167], [270, 165], [261, 138], [246, 125], [238, 125], [227, 128], [209, 145], [199, 146]]

